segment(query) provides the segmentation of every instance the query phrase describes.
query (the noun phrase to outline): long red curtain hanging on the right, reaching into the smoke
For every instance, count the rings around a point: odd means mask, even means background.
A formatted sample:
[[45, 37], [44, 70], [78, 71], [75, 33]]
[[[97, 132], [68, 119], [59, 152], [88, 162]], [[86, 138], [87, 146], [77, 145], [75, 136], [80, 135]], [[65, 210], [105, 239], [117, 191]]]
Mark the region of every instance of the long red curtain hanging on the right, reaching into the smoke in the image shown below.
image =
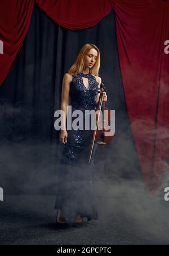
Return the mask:
[[119, 62], [145, 181], [155, 189], [169, 164], [169, 3], [114, 0]]

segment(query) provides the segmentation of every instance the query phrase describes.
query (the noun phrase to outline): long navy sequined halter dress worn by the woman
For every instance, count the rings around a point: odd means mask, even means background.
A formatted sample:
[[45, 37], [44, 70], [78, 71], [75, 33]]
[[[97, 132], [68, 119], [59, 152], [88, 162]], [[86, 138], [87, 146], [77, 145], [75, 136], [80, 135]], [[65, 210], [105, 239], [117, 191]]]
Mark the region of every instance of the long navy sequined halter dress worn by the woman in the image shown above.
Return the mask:
[[[83, 83], [83, 77], [88, 78], [88, 88]], [[98, 83], [91, 73], [78, 73], [72, 76], [70, 83], [70, 106], [72, 112], [83, 112], [83, 128], [85, 127], [85, 110], [96, 109]], [[77, 118], [77, 117], [76, 117]], [[72, 122], [75, 118], [72, 117]], [[64, 144], [63, 154], [57, 179], [55, 210], [61, 209], [66, 222], [74, 221], [77, 215], [87, 220], [98, 219], [95, 190], [94, 190], [94, 151], [91, 162], [87, 162], [92, 141], [91, 129], [68, 130], [67, 143]]]

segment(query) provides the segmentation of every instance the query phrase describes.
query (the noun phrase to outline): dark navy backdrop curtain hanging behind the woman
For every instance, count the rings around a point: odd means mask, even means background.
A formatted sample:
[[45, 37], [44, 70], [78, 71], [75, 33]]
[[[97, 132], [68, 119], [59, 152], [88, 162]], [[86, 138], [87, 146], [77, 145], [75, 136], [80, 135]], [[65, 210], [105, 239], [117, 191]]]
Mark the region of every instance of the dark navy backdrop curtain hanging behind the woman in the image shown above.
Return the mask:
[[114, 12], [95, 27], [70, 31], [35, 4], [24, 45], [0, 87], [0, 186], [5, 193], [55, 194], [63, 146], [54, 129], [54, 112], [60, 109], [64, 73], [88, 42], [100, 49], [106, 107], [115, 110], [114, 140], [97, 147], [96, 175], [112, 184], [142, 180], [126, 110]]

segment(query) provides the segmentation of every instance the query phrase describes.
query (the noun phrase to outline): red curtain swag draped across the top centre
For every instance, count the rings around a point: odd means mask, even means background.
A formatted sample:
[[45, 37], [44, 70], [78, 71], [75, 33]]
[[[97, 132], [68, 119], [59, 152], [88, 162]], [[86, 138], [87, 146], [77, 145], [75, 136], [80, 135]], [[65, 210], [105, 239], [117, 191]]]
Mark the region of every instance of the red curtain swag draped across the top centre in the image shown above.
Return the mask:
[[57, 24], [68, 29], [90, 28], [112, 10], [110, 0], [36, 0]]

